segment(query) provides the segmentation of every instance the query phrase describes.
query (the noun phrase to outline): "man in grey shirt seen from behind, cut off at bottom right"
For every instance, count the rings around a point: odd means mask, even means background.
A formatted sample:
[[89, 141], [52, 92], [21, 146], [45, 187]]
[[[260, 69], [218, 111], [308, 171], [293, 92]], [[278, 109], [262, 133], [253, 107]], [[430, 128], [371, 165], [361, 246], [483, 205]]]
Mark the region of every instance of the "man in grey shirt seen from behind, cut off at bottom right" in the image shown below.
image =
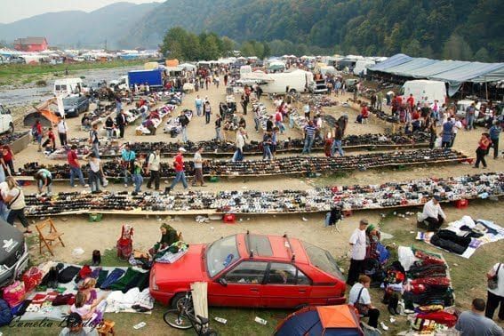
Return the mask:
[[504, 335], [499, 325], [484, 316], [484, 307], [484, 300], [476, 298], [471, 304], [471, 310], [460, 314], [455, 324], [455, 330], [460, 332], [460, 336]]

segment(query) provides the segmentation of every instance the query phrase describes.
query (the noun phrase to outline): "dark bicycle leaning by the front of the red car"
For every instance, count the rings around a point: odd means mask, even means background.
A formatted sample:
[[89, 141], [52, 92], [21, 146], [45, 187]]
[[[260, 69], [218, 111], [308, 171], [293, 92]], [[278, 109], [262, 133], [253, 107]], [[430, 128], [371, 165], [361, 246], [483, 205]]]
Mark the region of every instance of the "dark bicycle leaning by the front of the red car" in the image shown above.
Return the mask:
[[177, 308], [169, 309], [164, 313], [164, 322], [172, 328], [188, 330], [194, 328], [198, 336], [217, 336], [209, 326], [209, 319], [204, 316], [195, 316], [192, 293], [186, 292], [184, 298], [177, 300]]

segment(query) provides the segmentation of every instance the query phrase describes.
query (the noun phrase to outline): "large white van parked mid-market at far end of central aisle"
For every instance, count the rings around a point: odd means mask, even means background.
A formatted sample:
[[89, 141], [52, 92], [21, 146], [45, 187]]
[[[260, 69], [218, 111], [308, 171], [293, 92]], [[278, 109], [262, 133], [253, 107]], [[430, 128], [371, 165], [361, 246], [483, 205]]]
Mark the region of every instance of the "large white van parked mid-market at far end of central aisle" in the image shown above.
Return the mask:
[[290, 72], [268, 74], [260, 84], [264, 93], [306, 92], [313, 82], [313, 74], [308, 71], [296, 69]]

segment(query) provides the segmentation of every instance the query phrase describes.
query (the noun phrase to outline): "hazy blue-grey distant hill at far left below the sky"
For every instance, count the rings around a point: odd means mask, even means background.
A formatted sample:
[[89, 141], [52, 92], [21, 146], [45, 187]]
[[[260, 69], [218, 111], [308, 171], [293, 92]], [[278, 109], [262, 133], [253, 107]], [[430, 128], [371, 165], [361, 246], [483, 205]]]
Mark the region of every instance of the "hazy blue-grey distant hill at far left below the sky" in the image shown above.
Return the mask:
[[158, 4], [116, 3], [93, 12], [48, 12], [0, 25], [0, 40], [12, 43], [18, 37], [45, 36], [50, 45], [116, 48], [132, 24]]

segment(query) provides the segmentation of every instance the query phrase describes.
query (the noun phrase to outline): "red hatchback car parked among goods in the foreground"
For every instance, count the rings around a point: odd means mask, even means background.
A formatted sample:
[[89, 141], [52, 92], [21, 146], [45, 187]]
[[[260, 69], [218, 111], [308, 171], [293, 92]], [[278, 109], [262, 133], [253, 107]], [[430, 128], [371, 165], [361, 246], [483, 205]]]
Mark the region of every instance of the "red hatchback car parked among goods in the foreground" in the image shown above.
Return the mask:
[[249, 233], [189, 245], [172, 264], [156, 262], [150, 294], [177, 307], [190, 284], [208, 283], [210, 306], [300, 308], [345, 302], [345, 282], [332, 255], [287, 236]]

